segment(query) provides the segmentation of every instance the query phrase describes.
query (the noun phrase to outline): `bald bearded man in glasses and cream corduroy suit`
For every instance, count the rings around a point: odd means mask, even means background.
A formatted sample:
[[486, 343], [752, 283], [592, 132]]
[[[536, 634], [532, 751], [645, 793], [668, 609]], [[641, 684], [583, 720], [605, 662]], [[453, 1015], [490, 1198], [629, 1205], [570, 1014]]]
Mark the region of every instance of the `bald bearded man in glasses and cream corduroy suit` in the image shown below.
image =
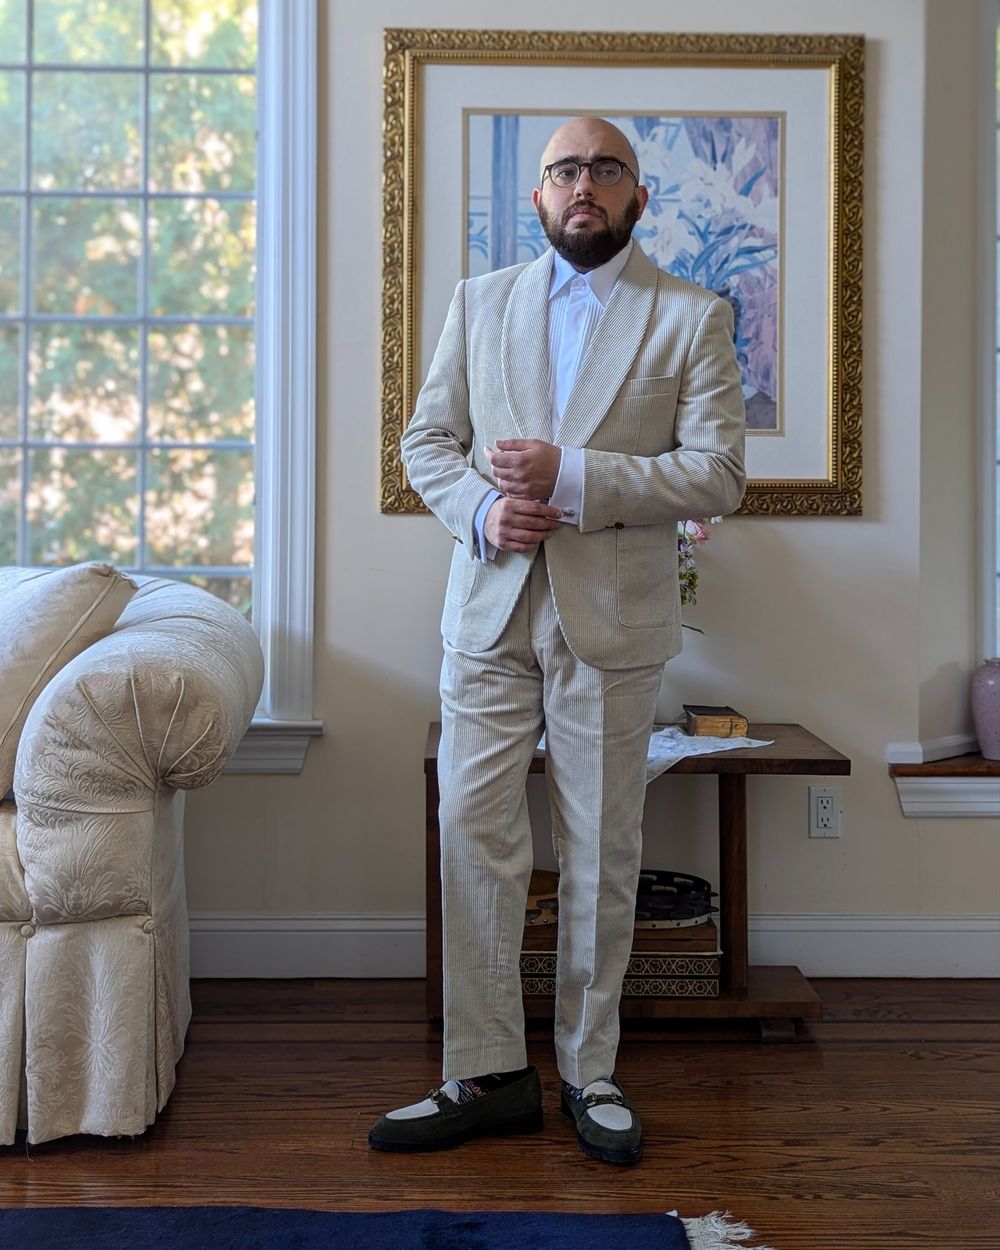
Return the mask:
[[381, 1116], [376, 1149], [541, 1126], [519, 954], [544, 729], [561, 1105], [588, 1155], [641, 1154], [614, 1071], [646, 749], [680, 650], [676, 522], [732, 511], [745, 486], [730, 306], [632, 244], [646, 201], [620, 130], [561, 126], [534, 192], [551, 249], [459, 282], [402, 439], [458, 541], [439, 752], [445, 1084]]

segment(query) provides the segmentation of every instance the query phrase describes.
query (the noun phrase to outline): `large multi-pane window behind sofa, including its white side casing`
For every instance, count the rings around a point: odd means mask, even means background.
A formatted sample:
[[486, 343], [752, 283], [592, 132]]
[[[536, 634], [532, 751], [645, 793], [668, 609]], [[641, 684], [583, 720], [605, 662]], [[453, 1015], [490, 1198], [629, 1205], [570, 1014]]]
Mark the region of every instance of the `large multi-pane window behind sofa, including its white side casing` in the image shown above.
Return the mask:
[[315, 56], [315, 0], [0, 0], [0, 562], [219, 594], [305, 732]]

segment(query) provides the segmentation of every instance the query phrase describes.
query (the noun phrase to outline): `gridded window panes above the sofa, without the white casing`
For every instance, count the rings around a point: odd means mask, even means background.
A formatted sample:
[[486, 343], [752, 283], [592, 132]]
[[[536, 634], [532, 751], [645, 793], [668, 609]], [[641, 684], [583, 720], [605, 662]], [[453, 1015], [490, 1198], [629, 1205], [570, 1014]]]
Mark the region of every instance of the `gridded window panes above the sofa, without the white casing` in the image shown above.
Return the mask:
[[0, 560], [248, 615], [256, 0], [5, 0]]

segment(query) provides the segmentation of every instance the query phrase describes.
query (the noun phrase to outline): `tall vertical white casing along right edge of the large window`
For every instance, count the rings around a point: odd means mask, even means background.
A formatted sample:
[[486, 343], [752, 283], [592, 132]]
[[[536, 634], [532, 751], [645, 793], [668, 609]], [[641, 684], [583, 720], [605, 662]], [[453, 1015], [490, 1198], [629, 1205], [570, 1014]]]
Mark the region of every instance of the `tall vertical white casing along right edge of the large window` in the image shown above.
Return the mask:
[[260, 0], [254, 622], [260, 712], [312, 716], [316, 0]]

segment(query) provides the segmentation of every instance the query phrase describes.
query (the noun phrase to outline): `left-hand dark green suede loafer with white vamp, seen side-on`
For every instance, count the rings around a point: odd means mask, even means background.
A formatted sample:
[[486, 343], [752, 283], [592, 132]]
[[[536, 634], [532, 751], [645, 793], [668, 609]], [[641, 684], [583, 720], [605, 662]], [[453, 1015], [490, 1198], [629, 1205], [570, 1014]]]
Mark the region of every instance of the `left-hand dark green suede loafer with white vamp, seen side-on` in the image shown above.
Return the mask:
[[536, 1068], [509, 1085], [469, 1102], [454, 1102], [444, 1089], [424, 1102], [379, 1116], [368, 1135], [372, 1150], [448, 1150], [469, 1138], [502, 1138], [541, 1128], [541, 1082]]

